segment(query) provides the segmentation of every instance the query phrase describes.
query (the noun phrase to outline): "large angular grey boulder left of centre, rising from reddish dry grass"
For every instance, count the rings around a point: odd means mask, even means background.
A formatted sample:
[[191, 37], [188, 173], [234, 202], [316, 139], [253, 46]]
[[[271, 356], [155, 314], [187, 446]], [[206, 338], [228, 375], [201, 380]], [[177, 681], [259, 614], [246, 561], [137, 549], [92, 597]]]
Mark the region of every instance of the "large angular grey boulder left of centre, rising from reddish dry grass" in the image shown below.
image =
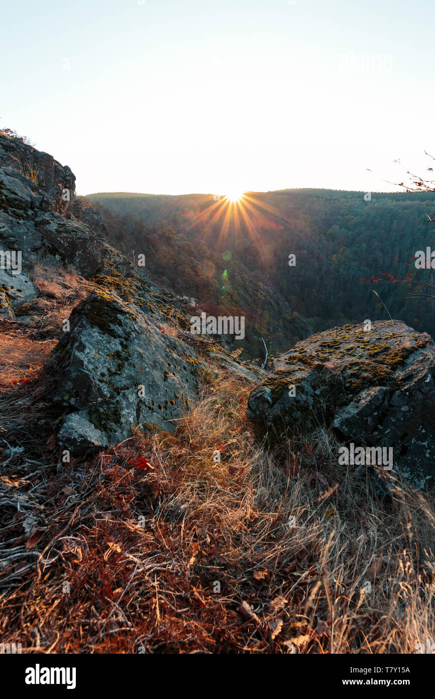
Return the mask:
[[117, 444], [138, 426], [175, 431], [208, 372], [193, 349], [107, 291], [75, 308], [53, 359], [54, 401], [71, 411], [58, 439], [73, 453]]

